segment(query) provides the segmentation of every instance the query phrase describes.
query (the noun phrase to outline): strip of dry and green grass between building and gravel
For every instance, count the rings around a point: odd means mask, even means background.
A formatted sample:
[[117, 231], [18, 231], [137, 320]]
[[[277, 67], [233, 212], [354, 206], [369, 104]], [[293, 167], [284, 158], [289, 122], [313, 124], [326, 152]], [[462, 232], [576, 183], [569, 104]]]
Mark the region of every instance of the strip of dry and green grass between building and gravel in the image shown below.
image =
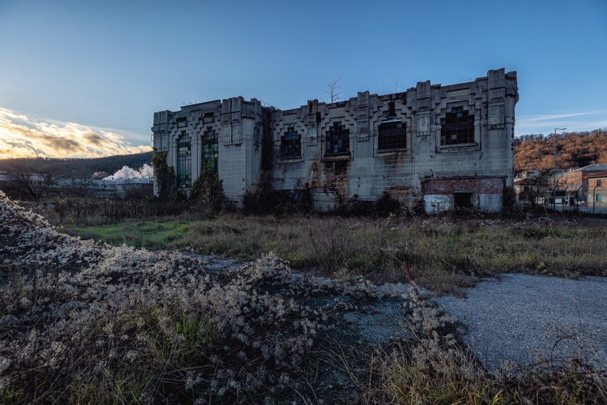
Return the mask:
[[607, 257], [597, 254], [607, 251], [607, 221], [580, 217], [224, 214], [209, 220], [165, 217], [66, 230], [114, 245], [194, 248], [239, 259], [274, 251], [294, 268], [327, 276], [364, 275], [376, 282], [406, 281], [400, 263], [406, 261], [418, 284], [437, 293], [459, 294], [479, 277], [502, 272], [577, 277], [601, 274], [607, 267]]

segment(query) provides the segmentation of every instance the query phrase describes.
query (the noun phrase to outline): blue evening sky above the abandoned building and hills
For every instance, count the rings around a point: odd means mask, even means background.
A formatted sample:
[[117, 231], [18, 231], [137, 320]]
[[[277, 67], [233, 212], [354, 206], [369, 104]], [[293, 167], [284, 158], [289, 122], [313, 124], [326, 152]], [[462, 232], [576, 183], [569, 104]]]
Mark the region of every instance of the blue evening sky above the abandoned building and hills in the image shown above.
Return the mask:
[[607, 1], [0, 0], [0, 136], [80, 128], [143, 150], [153, 113], [185, 103], [288, 109], [331, 77], [381, 94], [499, 67], [518, 71], [515, 134], [606, 127]]

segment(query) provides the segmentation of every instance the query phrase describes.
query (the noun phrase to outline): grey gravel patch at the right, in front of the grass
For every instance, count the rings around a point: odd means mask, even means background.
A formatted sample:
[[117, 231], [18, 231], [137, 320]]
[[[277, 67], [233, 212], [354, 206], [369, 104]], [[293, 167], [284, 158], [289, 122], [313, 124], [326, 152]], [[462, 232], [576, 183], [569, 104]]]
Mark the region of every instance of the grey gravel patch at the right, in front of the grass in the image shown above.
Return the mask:
[[[500, 360], [531, 364], [536, 347], [548, 359], [551, 354], [579, 356], [577, 342], [585, 345], [591, 364], [607, 369], [607, 277], [568, 280], [504, 274], [466, 292], [467, 299], [446, 296], [436, 301], [466, 325], [465, 341], [489, 369], [499, 367]], [[553, 327], [577, 341], [562, 340], [552, 352], [558, 336], [544, 336]]]

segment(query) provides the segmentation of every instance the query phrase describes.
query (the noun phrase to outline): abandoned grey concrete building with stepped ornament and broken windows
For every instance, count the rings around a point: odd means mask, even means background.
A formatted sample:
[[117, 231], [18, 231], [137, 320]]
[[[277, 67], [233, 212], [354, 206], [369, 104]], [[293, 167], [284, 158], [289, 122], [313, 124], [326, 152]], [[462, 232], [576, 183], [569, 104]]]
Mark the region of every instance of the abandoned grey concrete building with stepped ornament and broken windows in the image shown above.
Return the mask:
[[225, 196], [242, 203], [265, 153], [273, 188], [308, 187], [320, 211], [387, 191], [427, 213], [460, 206], [496, 212], [513, 185], [517, 101], [517, 72], [501, 68], [469, 83], [418, 82], [401, 93], [358, 92], [290, 110], [255, 98], [208, 101], [155, 112], [152, 132], [183, 192], [204, 159], [219, 172]]

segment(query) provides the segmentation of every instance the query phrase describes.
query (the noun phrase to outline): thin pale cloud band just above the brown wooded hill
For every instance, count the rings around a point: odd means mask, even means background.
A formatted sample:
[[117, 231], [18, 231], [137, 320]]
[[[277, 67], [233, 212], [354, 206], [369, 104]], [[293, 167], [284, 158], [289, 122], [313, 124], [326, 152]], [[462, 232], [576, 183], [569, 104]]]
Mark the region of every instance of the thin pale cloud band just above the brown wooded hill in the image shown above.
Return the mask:
[[552, 134], [555, 128], [568, 132], [592, 131], [607, 126], [607, 110], [554, 115], [522, 115], [517, 117], [516, 135]]

